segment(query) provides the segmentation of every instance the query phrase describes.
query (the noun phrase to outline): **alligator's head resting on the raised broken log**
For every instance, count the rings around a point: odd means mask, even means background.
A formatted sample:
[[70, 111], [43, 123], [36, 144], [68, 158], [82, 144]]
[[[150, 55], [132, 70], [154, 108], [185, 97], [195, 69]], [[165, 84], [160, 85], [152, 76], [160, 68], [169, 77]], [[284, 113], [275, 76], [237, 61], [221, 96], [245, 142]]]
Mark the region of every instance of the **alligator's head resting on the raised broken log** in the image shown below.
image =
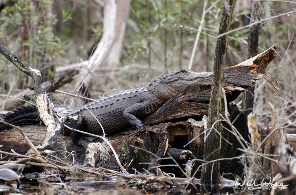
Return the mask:
[[166, 101], [185, 87], [197, 83], [211, 75], [211, 72], [193, 72], [189, 69], [181, 69], [155, 80], [149, 87], [158, 98]]

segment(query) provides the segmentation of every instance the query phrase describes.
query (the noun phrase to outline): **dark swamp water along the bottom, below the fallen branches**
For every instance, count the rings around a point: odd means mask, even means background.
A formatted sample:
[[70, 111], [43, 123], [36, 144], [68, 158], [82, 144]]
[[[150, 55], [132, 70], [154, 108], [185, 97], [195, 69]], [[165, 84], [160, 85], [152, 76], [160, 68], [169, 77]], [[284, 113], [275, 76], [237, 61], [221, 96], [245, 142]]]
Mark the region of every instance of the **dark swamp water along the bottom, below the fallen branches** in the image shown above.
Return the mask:
[[[70, 178], [66, 178], [69, 179]], [[73, 179], [73, 178], [72, 178]], [[166, 194], [166, 195], [189, 195], [200, 194], [200, 185], [196, 184], [194, 188], [191, 184], [185, 183], [186, 180], [180, 180], [181, 178], [174, 178], [175, 183], [162, 181], [147, 183], [146, 179], [133, 179], [127, 180], [117, 176], [108, 176], [107, 181], [93, 181], [98, 178], [84, 178], [92, 181], [83, 182], [53, 182], [46, 179], [29, 180], [21, 179], [20, 193], [17, 193], [16, 184], [12, 185], [0, 185], [1, 194], [14, 194], [14, 195], [54, 195], [54, 194]], [[152, 179], [149, 178], [149, 179]], [[151, 181], [151, 180], [150, 180]], [[154, 180], [153, 180], [154, 181]], [[171, 181], [171, 180], [169, 180]], [[176, 183], [181, 182], [181, 183]], [[145, 184], [145, 186], [143, 186]], [[233, 193], [233, 188], [227, 182], [221, 184], [224, 188], [220, 189], [220, 194]], [[218, 189], [221, 185], [217, 186]], [[2, 186], [2, 188], [1, 188]], [[11, 188], [11, 189], [9, 189]], [[2, 189], [2, 190], [1, 190]], [[9, 190], [7, 190], [9, 189]]]

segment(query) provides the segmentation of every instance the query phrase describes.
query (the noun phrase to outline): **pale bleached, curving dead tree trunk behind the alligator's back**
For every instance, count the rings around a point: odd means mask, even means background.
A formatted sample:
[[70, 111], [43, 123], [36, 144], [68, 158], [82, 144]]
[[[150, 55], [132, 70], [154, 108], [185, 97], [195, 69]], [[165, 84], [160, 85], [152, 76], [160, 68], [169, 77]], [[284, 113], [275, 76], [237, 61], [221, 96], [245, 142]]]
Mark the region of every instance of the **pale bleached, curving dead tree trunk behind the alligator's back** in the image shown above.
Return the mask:
[[75, 86], [78, 92], [87, 95], [87, 89], [91, 85], [91, 73], [99, 67], [118, 65], [129, 14], [129, 4], [130, 0], [104, 1], [104, 33], [89, 60], [81, 62], [83, 68], [76, 79]]

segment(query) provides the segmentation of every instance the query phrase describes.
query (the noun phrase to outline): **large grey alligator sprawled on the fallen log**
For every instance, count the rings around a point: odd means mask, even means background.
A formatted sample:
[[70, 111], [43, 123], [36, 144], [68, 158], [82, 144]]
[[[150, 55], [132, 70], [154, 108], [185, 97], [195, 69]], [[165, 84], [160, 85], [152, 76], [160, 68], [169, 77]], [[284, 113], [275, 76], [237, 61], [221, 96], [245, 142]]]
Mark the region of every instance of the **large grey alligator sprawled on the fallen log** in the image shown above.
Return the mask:
[[[54, 110], [59, 117], [77, 116], [77, 120], [70, 120], [71, 128], [96, 135], [103, 134], [103, 130], [105, 134], [110, 135], [128, 125], [135, 126], [139, 130], [145, 128], [141, 118], [155, 111], [185, 87], [211, 75], [212, 73], [208, 72], [197, 73], [189, 69], [181, 69], [162, 76], [147, 87], [116, 92], [73, 110], [65, 105], [57, 105]], [[4, 115], [4, 120], [18, 125], [25, 124], [29, 117], [35, 117], [29, 122], [40, 123], [40, 119], [36, 117], [38, 114], [34, 114], [36, 107], [34, 110], [33, 106], [29, 108], [23, 106], [13, 111], [14, 113]], [[18, 120], [20, 120], [19, 123]], [[5, 125], [0, 121], [0, 131], [4, 128]], [[94, 139], [94, 137], [73, 130], [71, 138], [73, 143], [84, 148], [87, 148], [88, 143]]]

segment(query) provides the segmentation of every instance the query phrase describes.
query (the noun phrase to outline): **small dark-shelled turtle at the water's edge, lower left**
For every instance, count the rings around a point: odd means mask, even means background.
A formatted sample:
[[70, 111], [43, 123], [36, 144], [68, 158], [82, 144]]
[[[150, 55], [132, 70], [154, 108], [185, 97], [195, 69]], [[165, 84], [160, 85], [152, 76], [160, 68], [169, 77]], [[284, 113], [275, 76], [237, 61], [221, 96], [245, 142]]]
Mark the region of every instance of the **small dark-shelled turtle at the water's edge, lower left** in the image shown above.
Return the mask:
[[17, 183], [17, 189], [20, 189], [20, 173], [24, 170], [24, 167], [20, 166], [16, 172], [10, 168], [1, 168], [0, 183], [5, 185]]

